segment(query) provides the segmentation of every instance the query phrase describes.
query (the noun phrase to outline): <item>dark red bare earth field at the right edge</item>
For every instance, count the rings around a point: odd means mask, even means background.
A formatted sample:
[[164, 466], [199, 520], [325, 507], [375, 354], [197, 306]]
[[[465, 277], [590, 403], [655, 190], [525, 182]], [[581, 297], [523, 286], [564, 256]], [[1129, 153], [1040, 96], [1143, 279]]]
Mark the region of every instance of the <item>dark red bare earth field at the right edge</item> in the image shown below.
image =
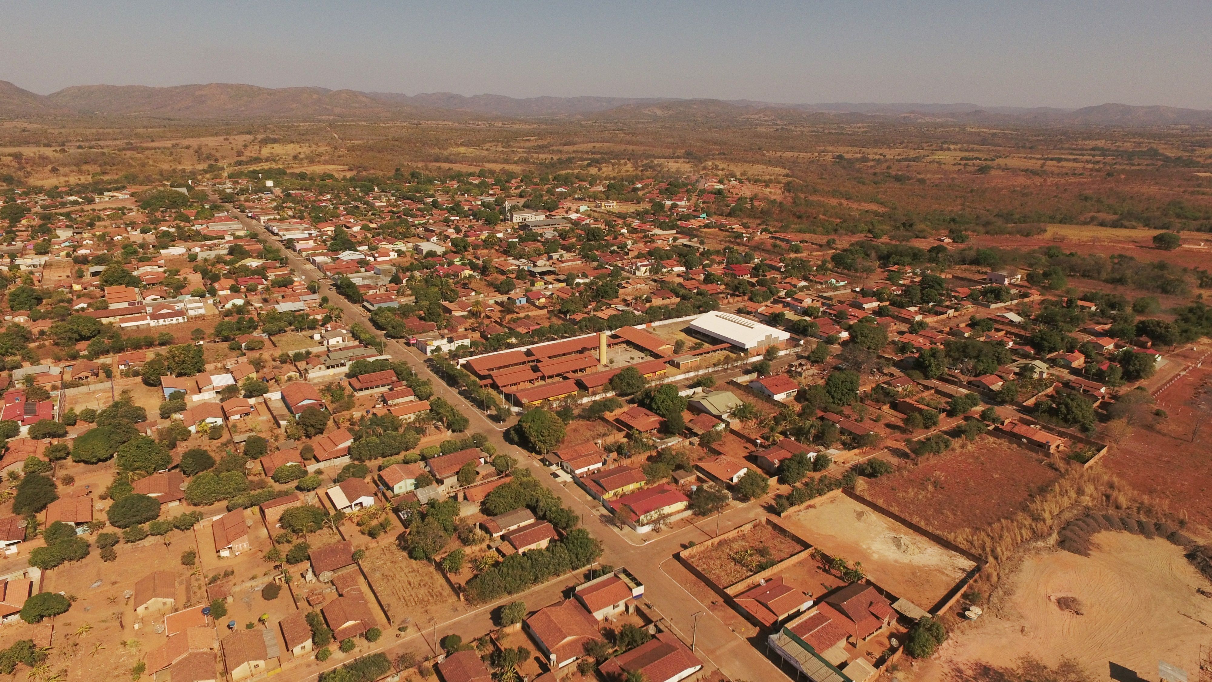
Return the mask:
[[[1195, 358], [1202, 356], [1200, 352]], [[1165, 501], [1171, 511], [1212, 528], [1212, 366], [1193, 368], [1156, 394], [1170, 416], [1156, 426], [1137, 426], [1103, 461], [1138, 491]]]

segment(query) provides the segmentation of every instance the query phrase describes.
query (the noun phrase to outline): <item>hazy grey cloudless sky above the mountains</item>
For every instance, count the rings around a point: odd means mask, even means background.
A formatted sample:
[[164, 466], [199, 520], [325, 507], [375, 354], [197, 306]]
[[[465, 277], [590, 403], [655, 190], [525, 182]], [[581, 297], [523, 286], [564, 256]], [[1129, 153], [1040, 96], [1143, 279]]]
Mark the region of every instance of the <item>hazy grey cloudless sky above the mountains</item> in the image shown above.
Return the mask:
[[1212, 1], [0, 0], [0, 80], [1212, 108]]

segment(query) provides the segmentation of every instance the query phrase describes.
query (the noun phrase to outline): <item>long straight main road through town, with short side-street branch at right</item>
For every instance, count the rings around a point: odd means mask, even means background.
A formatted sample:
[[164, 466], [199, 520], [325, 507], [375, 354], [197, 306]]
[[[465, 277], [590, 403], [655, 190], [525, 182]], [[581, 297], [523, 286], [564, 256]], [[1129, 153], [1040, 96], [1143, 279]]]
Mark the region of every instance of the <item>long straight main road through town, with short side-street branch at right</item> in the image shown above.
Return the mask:
[[[252, 232], [264, 237], [270, 241], [278, 241], [261, 223], [240, 215], [229, 206], [233, 215], [238, 215], [240, 222]], [[366, 329], [377, 336], [382, 336], [370, 322], [370, 316], [365, 308], [347, 301], [330, 285], [327, 278], [295, 252], [282, 249], [286, 258], [295, 272], [307, 282], [316, 282], [319, 292], [328, 296], [328, 302], [337, 305], [343, 311], [344, 319], [349, 323], [361, 323]], [[602, 544], [601, 563], [614, 567], [627, 567], [645, 585], [645, 601], [651, 603], [658, 612], [664, 614], [667, 620], [678, 630], [684, 641], [692, 638], [697, 642], [697, 655], [715, 665], [720, 671], [732, 680], [781, 680], [785, 675], [773, 665], [765, 655], [758, 652], [753, 644], [742, 636], [732, 631], [722, 620], [716, 618], [710, 610], [710, 603], [699, 602], [690, 591], [670, 578], [662, 568], [674, 552], [681, 550], [686, 542], [702, 541], [709, 538], [708, 533], [697, 527], [687, 527], [678, 532], [664, 533], [656, 540], [636, 546], [633, 544], [636, 535], [634, 533], [618, 530], [608, 524], [600, 516], [601, 505], [584, 494], [576, 485], [561, 485], [549, 474], [548, 470], [541, 465], [533, 455], [521, 450], [516, 445], [505, 442], [502, 436], [503, 428], [490, 421], [482, 411], [468, 403], [457, 391], [446, 385], [434, 373], [429, 370], [423, 360], [423, 356], [393, 339], [384, 339], [385, 352], [393, 358], [407, 360], [413, 370], [430, 380], [434, 394], [441, 396], [451, 404], [459, 405], [471, 424], [469, 431], [480, 432], [488, 437], [496, 445], [498, 453], [505, 453], [518, 459], [519, 466], [528, 468], [536, 478], [542, 481], [548, 488], [560, 495], [564, 504], [581, 515], [584, 525]], [[720, 532], [725, 533], [748, 521], [764, 516], [760, 505], [748, 504], [734, 506], [722, 515], [720, 519]], [[705, 524], [713, 527], [714, 523]], [[711, 528], [714, 532], [714, 528]], [[629, 536], [630, 535], [630, 539]], [[702, 613], [698, 618], [697, 631], [694, 630], [694, 614]], [[439, 625], [439, 637], [444, 636]]]

